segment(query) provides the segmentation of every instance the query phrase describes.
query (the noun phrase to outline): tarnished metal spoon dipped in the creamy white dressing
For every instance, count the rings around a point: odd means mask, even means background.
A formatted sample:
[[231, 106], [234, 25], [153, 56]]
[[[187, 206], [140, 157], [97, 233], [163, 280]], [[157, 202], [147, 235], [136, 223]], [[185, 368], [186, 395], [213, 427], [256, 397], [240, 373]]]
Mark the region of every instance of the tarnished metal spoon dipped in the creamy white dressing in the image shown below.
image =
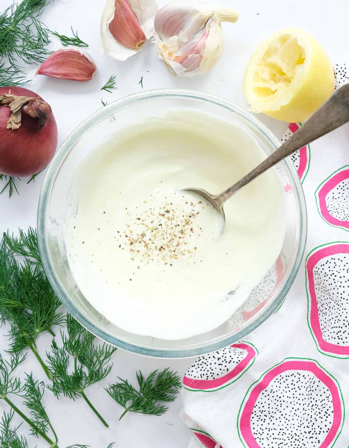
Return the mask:
[[314, 115], [312, 115], [298, 131], [293, 134], [287, 142], [280, 146], [277, 151], [269, 155], [260, 165], [249, 172], [234, 185], [223, 191], [221, 194], [210, 194], [202, 188], [185, 188], [184, 190], [200, 194], [220, 213], [226, 222], [226, 216], [223, 210], [223, 204], [233, 196], [240, 188], [249, 184], [260, 174], [280, 162], [285, 157], [293, 154], [299, 148], [306, 146], [317, 138], [328, 134], [328, 132], [339, 128], [349, 121], [349, 84], [340, 87], [324, 103]]

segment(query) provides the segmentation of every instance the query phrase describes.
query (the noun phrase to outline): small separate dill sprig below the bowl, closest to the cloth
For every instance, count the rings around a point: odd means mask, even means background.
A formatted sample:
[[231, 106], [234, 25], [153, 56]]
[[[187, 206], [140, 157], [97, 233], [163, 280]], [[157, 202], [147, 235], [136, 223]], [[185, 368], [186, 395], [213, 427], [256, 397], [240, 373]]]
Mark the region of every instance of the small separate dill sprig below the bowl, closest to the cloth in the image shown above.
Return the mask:
[[174, 401], [176, 394], [181, 388], [181, 379], [177, 372], [171, 372], [168, 368], [158, 372], [154, 370], [147, 379], [141, 371], [136, 372], [139, 391], [136, 390], [128, 380], [119, 378], [120, 383], [109, 384], [105, 388], [106, 392], [123, 408], [119, 420], [127, 412], [137, 412], [140, 414], [162, 415], [167, 411], [161, 401]]

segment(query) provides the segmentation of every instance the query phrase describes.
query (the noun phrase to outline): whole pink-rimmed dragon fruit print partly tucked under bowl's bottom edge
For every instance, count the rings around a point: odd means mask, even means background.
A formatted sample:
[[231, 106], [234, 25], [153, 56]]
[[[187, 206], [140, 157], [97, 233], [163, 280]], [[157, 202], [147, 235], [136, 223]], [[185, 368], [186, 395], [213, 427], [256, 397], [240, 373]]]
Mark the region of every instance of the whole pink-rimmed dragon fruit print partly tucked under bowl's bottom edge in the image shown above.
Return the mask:
[[192, 391], [213, 392], [229, 386], [252, 366], [257, 354], [254, 345], [241, 342], [200, 356], [184, 375], [183, 387]]

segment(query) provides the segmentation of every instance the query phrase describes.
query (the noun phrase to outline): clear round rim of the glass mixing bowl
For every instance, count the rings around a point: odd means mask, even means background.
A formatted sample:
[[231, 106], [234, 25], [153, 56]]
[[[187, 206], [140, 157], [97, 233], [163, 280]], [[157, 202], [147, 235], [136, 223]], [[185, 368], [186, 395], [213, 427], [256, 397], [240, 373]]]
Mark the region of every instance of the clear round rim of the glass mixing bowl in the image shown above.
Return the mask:
[[298, 250], [295, 254], [293, 269], [290, 272], [289, 278], [286, 280], [284, 287], [279, 292], [278, 296], [275, 297], [273, 302], [269, 303], [258, 316], [255, 321], [249, 323], [246, 327], [238, 331], [232, 336], [221, 338], [220, 340], [215, 340], [213, 342], [208, 342], [205, 345], [195, 346], [193, 348], [185, 349], [157, 349], [155, 346], [149, 347], [149, 345], [140, 346], [134, 345], [127, 341], [118, 339], [115, 336], [110, 335], [103, 329], [98, 327], [94, 322], [86, 319], [80, 311], [75, 307], [74, 303], [65, 294], [60, 281], [56, 278], [54, 267], [51, 262], [51, 256], [48, 249], [47, 235], [45, 231], [47, 212], [49, 209], [49, 203], [51, 198], [51, 192], [53, 185], [55, 183], [55, 177], [60, 170], [61, 165], [64, 163], [64, 159], [72, 147], [78, 142], [81, 136], [88, 131], [91, 127], [96, 125], [99, 121], [106, 119], [113, 113], [118, 112], [120, 109], [140, 103], [141, 101], [147, 101], [154, 98], [179, 98], [179, 99], [196, 99], [208, 103], [213, 103], [216, 106], [226, 108], [227, 110], [233, 112], [234, 114], [240, 116], [244, 121], [247, 121], [249, 125], [260, 132], [264, 138], [271, 144], [272, 147], [277, 149], [280, 146], [280, 141], [277, 137], [272, 134], [272, 132], [265, 126], [261, 121], [259, 121], [251, 113], [247, 112], [243, 108], [236, 106], [234, 103], [221, 99], [215, 95], [210, 95], [208, 93], [196, 91], [196, 90], [185, 90], [185, 89], [156, 89], [147, 90], [144, 92], [136, 93], [133, 95], [128, 95], [124, 98], [118, 99], [113, 103], [106, 105], [105, 107], [94, 112], [91, 116], [86, 118], [75, 130], [72, 131], [70, 135], [64, 140], [60, 148], [56, 151], [51, 164], [47, 168], [46, 175], [43, 180], [43, 185], [40, 192], [39, 203], [38, 203], [38, 216], [37, 216], [37, 229], [38, 229], [38, 245], [39, 253], [43, 262], [43, 267], [46, 272], [47, 278], [52, 285], [57, 296], [60, 298], [62, 304], [66, 307], [68, 312], [81, 323], [89, 332], [98, 336], [103, 341], [111, 345], [115, 345], [120, 349], [125, 349], [132, 353], [137, 353], [140, 355], [151, 356], [156, 358], [190, 358], [198, 356], [200, 354], [205, 354], [212, 352], [214, 350], [222, 349], [228, 345], [234, 344], [235, 342], [242, 340], [244, 337], [253, 332], [257, 327], [264, 323], [281, 305], [285, 300], [289, 289], [291, 288], [294, 280], [298, 274], [300, 265], [302, 263], [302, 258], [304, 255], [305, 244], [306, 244], [306, 232], [307, 232], [307, 216], [306, 216], [306, 202], [304, 198], [304, 193], [302, 190], [301, 182], [298, 178], [298, 173], [294, 168], [293, 163], [289, 159], [285, 159], [284, 162], [289, 168], [289, 174], [296, 185], [294, 191], [296, 195], [296, 200], [299, 206], [299, 226], [300, 226], [300, 239], [298, 244]]

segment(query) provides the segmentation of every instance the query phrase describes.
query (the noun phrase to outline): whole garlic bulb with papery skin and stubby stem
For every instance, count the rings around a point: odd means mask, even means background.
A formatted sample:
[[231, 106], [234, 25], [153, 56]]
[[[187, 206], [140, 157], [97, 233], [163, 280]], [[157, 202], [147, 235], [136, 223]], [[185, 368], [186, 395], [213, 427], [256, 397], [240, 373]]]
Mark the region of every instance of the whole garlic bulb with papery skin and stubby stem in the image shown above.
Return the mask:
[[236, 11], [213, 4], [168, 4], [155, 16], [157, 54], [173, 74], [193, 78], [206, 73], [223, 52], [221, 22], [237, 20]]

